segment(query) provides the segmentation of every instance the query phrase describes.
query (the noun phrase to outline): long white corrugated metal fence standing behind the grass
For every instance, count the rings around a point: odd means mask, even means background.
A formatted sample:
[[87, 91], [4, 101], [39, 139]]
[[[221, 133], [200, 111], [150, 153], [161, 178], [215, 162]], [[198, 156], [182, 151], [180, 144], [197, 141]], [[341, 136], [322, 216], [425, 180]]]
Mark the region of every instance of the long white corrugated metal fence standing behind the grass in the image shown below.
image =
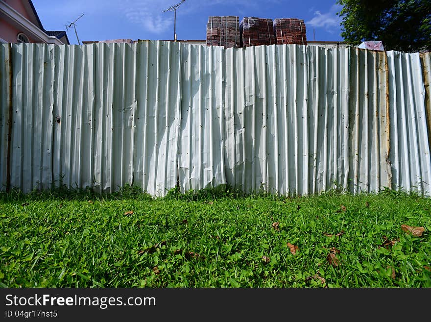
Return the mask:
[[3, 190], [431, 192], [430, 53], [143, 41], [0, 55]]

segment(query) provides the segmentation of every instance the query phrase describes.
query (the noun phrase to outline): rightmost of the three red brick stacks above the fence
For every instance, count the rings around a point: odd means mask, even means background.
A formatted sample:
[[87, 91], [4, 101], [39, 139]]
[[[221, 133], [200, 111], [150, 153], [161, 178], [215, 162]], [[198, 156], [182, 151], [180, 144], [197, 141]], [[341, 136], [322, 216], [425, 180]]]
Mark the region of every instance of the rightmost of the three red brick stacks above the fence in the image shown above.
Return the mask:
[[302, 19], [275, 19], [274, 33], [277, 38], [277, 45], [307, 45], [305, 24]]

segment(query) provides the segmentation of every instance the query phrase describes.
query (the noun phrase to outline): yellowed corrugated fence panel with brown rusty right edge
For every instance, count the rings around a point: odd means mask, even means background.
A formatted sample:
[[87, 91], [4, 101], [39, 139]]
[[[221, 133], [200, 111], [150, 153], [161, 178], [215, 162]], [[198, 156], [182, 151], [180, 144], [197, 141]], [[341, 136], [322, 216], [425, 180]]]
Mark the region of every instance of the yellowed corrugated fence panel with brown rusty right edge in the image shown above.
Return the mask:
[[387, 64], [383, 52], [350, 49], [350, 190], [391, 186]]

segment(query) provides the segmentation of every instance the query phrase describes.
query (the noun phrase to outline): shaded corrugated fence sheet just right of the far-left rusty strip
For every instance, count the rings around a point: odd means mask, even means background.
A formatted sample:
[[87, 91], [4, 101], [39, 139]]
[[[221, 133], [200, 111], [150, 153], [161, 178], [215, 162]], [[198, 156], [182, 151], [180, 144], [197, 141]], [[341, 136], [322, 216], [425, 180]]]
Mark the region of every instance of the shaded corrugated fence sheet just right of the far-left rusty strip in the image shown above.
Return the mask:
[[24, 192], [51, 187], [53, 46], [12, 47], [11, 185]]

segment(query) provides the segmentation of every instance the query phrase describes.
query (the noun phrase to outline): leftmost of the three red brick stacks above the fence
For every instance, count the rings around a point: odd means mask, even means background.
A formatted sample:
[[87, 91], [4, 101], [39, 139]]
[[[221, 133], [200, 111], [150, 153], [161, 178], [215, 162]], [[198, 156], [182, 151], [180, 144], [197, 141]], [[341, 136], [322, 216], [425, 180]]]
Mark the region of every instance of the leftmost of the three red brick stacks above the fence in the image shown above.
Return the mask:
[[210, 16], [207, 24], [207, 46], [239, 48], [239, 17]]

